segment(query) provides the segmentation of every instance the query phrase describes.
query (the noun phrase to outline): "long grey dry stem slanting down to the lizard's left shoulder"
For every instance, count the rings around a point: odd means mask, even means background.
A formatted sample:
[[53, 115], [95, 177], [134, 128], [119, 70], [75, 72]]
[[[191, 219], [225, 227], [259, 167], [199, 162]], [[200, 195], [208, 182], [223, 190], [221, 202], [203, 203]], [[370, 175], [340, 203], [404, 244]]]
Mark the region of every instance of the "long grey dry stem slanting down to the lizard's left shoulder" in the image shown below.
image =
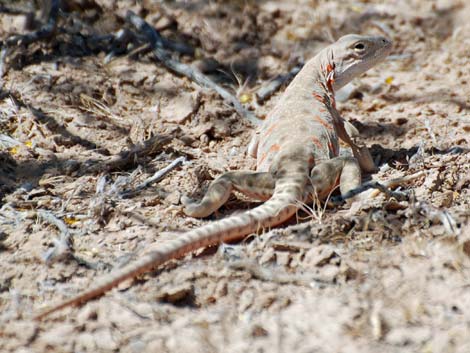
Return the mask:
[[261, 121], [253, 113], [246, 110], [238, 101], [238, 99], [226, 89], [214, 83], [211, 79], [209, 79], [199, 70], [172, 59], [168, 52], [164, 49], [163, 38], [157, 33], [157, 31], [155, 31], [152, 26], [150, 26], [142, 18], [134, 14], [132, 11], [128, 11], [126, 14], [126, 20], [129, 21], [132, 25], [134, 25], [137, 30], [145, 36], [145, 38], [151, 45], [154, 55], [167, 68], [182, 76], [189, 78], [190, 80], [196, 82], [202, 87], [214, 90], [226, 102], [230, 103], [241, 117], [249, 120], [252, 124], [259, 125], [261, 123]]

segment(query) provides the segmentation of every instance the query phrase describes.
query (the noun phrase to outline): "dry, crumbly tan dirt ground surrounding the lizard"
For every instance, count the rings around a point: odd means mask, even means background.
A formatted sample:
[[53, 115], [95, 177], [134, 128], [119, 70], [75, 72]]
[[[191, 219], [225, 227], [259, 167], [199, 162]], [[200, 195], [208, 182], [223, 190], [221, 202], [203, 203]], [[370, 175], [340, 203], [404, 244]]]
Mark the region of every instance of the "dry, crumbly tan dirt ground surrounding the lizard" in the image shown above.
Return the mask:
[[[1, 352], [470, 352], [468, 1], [68, 3], [59, 19], [68, 31], [15, 48], [4, 67]], [[253, 126], [145, 50], [105, 63], [90, 37], [122, 28], [128, 9], [193, 48], [175, 58], [259, 117], [279, 93], [262, 104], [254, 93], [332, 39], [389, 36], [389, 60], [339, 109], [371, 146], [380, 168], [371, 177], [426, 173], [402, 186], [410, 201], [379, 194], [299, 213], [32, 321], [150, 244], [257, 204], [236, 195], [210, 219], [182, 213], [182, 195], [253, 167]], [[1, 38], [24, 23], [1, 14]], [[148, 139], [144, 154], [111, 162]], [[161, 181], [119, 196], [182, 156]]]

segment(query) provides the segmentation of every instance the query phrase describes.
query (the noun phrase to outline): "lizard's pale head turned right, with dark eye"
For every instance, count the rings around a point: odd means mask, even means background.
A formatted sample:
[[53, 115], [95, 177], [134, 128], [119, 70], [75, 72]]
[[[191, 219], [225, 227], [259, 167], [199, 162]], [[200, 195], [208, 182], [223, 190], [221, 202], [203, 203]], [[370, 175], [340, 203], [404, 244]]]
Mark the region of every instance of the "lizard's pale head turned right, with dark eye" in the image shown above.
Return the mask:
[[384, 60], [392, 49], [392, 42], [380, 36], [348, 34], [328, 47], [328, 65], [332, 68], [333, 89], [337, 90], [353, 78]]

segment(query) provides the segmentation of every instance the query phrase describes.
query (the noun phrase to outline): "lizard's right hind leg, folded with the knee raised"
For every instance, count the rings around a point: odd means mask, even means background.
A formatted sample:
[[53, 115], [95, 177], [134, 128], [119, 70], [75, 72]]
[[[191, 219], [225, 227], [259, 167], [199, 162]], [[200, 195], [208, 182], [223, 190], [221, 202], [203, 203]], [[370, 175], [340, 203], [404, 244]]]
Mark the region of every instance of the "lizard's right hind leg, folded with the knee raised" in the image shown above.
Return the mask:
[[361, 185], [361, 168], [356, 158], [335, 157], [322, 161], [310, 173], [312, 188], [324, 200], [339, 184], [341, 195]]

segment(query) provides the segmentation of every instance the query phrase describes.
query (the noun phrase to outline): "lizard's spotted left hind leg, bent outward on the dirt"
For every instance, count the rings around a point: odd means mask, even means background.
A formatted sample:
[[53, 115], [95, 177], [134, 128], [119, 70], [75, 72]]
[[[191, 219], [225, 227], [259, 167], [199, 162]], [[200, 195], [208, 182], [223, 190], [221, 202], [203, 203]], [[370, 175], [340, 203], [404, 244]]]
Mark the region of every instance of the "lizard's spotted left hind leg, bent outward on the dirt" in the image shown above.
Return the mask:
[[202, 198], [196, 202], [183, 196], [184, 213], [202, 218], [218, 210], [230, 197], [232, 190], [237, 190], [257, 200], [267, 200], [274, 192], [274, 178], [270, 173], [237, 171], [222, 174], [215, 179]]

